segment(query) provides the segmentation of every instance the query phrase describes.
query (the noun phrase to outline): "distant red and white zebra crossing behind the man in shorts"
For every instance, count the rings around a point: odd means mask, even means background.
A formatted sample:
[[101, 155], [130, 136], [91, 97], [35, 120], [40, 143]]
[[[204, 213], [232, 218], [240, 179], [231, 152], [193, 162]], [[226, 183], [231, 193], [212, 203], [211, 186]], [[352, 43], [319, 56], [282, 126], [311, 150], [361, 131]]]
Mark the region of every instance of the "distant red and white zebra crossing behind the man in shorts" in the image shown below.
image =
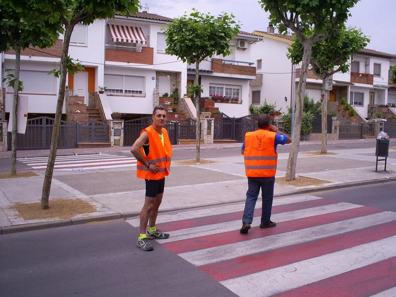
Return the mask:
[[[46, 170], [48, 157], [18, 158], [36, 170]], [[109, 153], [57, 156], [54, 170], [86, 170], [136, 166], [136, 158]]]

